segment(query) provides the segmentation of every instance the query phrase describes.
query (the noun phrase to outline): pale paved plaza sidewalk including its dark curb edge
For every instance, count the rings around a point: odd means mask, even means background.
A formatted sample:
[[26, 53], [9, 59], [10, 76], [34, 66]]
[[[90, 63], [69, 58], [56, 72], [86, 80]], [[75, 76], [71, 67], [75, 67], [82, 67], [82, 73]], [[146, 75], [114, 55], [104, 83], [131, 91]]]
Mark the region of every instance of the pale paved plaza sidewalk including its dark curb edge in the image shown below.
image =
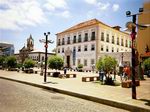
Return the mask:
[[[63, 73], [63, 71], [61, 71]], [[137, 100], [131, 98], [131, 88], [121, 86], [100, 85], [94, 82], [82, 82], [82, 76], [98, 75], [94, 73], [76, 73], [76, 78], [53, 78], [47, 77], [47, 83], [43, 84], [44, 77], [39, 74], [26, 74], [16, 71], [0, 70], [0, 78], [54, 90], [91, 101], [124, 108], [135, 112], [150, 112], [150, 78], [140, 81], [137, 87]], [[119, 79], [119, 77], [117, 77]]]

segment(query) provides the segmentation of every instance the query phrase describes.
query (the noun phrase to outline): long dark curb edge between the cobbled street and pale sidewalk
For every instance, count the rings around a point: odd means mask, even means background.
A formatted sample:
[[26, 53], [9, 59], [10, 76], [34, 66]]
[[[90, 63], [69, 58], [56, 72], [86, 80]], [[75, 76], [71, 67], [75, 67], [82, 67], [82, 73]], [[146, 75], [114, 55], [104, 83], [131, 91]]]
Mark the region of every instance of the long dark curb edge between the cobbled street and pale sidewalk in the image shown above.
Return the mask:
[[16, 79], [1, 77], [1, 76], [0, 76], [0, 78], [5, 79], [5, 80], [10, 80], [10, 81], [15, 81], [15, 82], [27, 84], [27, 85], [31, 85], [31, 86], [34, 86], [34, 87], [39, 87], [39, 88], [51, 90], [51, 91], [58, 92], [58, 93], [61, 93], [61, 94], [75, 96], [75, 97], [78, 97], [78, 98], [82, 98], [82, 99], [94, 101], [94, 102], [97, 102], [97, 103], [117, 107], [117, 108], [120, 108], [120, 109], [129, 110], [131, 112], [150, 112], [150, 109], [146, 109], [146, 108], [142, 108], [142, 107], [138, 107], [138, 106], [122, 103], [122, 102], [97, 98], [97, 97], [93, 97], [93, 96], [89, 96], [89, 95], [84, 95], [84, 94], [80, 94], [80, 93], [75, 93], [75, 92], [66, 91], [66, 90], [62, 90], [62, 89], [57, 89], [57, 88], [54, 88], [54, 87], [47, 87], [47, 86], [44, 86], [44, 85], [39, 85], [39, 84], [31, 83], [31, 82], [25, 82], [25, 81], [20, 81], [20, 80], [16, 80]]

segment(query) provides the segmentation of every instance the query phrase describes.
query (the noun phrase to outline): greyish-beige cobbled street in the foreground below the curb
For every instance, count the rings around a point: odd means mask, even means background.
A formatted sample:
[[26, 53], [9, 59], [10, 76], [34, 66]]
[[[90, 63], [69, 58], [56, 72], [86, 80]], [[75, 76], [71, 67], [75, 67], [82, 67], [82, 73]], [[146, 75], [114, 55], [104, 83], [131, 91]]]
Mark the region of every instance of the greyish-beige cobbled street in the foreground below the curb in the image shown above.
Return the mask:
[[0, 79], [0, 112], [127, 112], [115, 107]]

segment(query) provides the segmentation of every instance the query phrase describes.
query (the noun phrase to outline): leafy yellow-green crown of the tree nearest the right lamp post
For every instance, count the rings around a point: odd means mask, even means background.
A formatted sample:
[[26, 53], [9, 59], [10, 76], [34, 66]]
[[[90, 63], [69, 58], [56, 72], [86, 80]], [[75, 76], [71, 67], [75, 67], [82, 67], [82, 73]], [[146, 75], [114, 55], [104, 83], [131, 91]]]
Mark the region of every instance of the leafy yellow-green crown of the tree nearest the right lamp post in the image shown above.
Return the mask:
[[115, 58], [112, 58], [110, 56], [105, 56], [103, 58], [100, 58], [96, 63], [97, 70], [103, 69], [106, 73], [113, 70], [117, 65], [117, 61]]

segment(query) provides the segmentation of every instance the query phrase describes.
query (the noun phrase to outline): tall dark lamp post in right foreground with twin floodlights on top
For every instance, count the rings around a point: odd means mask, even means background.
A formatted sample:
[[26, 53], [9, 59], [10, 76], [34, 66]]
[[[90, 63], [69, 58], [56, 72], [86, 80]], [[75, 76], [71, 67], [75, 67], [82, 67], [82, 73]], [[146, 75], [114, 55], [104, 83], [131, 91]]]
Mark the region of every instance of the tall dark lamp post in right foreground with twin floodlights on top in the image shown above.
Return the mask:
[[132, 39], [132, 99], [136, 99], [136, 83], [135, 83], [135, 38], [136, 38], [136, 16], [143, 12], [143, 8], [139, 8], [139, 13], [132, 14], [130, 11], [126, 12], [127, 17], [132, 17], [132, 22], [126, 25], [131, 30]]

